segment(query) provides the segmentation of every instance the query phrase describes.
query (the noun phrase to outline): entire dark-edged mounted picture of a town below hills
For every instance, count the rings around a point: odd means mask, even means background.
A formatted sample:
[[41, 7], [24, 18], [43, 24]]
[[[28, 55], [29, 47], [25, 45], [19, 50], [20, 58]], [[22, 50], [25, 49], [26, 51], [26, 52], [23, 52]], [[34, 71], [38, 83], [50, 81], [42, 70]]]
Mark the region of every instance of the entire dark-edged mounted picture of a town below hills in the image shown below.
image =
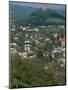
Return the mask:
[[10, 88], [66, 85], [65, 5], [9, 6]]

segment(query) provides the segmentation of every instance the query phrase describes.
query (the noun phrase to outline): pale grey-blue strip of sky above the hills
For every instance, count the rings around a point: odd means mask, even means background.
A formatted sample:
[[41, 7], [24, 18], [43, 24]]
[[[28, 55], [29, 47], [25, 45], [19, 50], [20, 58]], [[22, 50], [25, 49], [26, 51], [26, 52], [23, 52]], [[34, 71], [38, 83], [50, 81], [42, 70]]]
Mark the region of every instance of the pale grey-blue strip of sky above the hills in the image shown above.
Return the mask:
[[47, 3], [25, 3], [25, 2], [18, 2], [18, 1], [11, 1], [10, 3], [11, 5], [18, 5], [18, 6], [25, 6], [25, 7], [34, 7], [34, 8], [42, 8], [42, 7], [46, 7], [46, 8], [51, 8], [51, 9], [61, 9], [61, 10], [65, 10], [65, 5], [63, 4], [47, 4]]

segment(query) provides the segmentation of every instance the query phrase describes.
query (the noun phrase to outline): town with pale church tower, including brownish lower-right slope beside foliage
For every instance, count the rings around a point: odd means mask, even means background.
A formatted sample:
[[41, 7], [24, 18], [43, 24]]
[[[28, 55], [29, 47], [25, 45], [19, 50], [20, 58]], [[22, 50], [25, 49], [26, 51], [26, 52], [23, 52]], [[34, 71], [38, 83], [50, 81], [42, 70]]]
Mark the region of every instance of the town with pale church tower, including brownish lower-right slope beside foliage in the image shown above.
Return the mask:
[[22, 25], [18, 30], [15, 25], [12, 25], [11, 57], [14, 58], [17, 54], [22, 62], [33, 60], [37, 65], [40, 63], [45, 71], [54, 73], [57, 85], [65, 84], [65, 52], [65, 27], [63, 25], [38, 27]]

